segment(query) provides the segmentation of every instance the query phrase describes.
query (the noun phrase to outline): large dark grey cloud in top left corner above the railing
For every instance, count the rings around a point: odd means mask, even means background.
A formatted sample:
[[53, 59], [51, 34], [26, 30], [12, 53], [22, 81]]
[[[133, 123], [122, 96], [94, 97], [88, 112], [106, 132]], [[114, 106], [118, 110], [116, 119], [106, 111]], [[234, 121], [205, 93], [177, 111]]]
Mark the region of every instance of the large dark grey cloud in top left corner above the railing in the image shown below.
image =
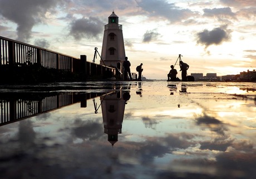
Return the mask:
[[45, 13], [57, 6], [62, 0], [0, 0], [0, 14], [17, 24], [19, 41], [31, 37], [33, 26], [42, 23]]

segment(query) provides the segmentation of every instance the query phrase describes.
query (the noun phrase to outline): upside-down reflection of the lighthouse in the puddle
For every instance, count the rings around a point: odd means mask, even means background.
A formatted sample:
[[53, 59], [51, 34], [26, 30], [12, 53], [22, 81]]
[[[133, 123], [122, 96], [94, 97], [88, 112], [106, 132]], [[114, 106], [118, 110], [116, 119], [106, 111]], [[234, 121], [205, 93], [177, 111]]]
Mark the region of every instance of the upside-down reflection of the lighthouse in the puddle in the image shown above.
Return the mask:
[[101, 96], [101, 111], [104, 122], [104, 133], [112, 146], [118, 141], [118, 134], [122, 133], [125, 105], [130, 100], [129, 91], [118, 91]]

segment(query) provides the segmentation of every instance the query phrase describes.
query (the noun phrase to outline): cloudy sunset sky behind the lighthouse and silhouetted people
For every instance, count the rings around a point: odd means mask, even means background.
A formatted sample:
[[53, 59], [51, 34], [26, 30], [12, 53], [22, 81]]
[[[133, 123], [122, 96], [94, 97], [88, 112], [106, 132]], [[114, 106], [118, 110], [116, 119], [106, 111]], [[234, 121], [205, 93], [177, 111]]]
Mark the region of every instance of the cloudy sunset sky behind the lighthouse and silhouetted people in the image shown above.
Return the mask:
[[101, 52], [114, 10], [132, 71], [143, 63], [149, 79], [167, 79], [179, 54], [188, 74], [256, 69], [255, 0], [0, 0], [0, 7], [0, 36], [78, 58], [86, 54], [87, 61], [95, 47]]

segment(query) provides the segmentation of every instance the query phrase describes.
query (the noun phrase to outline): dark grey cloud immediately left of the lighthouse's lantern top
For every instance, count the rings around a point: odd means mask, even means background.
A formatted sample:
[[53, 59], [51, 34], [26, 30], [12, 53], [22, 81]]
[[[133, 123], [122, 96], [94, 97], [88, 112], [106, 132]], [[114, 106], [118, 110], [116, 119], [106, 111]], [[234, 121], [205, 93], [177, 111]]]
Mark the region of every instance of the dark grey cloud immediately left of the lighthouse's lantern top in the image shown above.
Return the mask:
[[76, 19], [71, 23], [70, 35], [75, 39], [97, 38], [102, 33], [104, 23], [96, 17]]

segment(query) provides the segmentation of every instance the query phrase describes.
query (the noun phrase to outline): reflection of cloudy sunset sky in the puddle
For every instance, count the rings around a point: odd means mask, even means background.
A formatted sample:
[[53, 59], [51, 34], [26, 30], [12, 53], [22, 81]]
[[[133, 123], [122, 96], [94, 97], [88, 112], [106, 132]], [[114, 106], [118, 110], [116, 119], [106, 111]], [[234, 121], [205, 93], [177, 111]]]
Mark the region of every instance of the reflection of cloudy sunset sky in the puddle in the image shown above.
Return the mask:
[[[2, 126], [1, 176], [256, 178], [254, 101], [222, 93], [193, 93], [201, 86], [187, 86], [191, 93], [184, 98], [170, 97], [168, 90], [166, 95], [161, 91], [161, 98], [149, 95], [147, 88], [143, 97], [131, 92], [123, 131], [114, 147], [107, 142], [101, 113], [93, 113], [91, 101], [87, 108], [77, 105], [79, 110], [70, 106], [52, 111], [51, 116], [42, 117], [47, 121], [35, 117], [19, 127], [19, 122]], [[142, 99], [146, 99], [143, 105]], [[24, 144], [33, 148], [21, 148], [18, 139], [28, 140]], [[33, 170], [28, 170], [31, 166]]]

